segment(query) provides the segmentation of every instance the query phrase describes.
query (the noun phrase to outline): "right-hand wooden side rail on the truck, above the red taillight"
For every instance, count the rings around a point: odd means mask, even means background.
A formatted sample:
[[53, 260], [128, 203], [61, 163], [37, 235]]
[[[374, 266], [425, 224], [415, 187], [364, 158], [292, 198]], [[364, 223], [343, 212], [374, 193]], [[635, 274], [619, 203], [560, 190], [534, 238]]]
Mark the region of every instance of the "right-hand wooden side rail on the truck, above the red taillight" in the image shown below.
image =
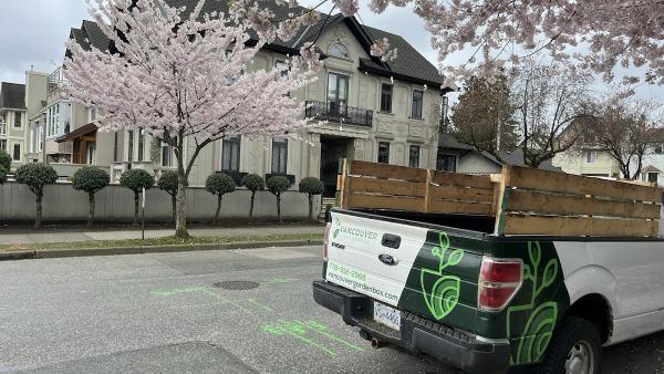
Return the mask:
[[501, 179], [497, 235], [657, 236], [656, 187], [518, 166]]

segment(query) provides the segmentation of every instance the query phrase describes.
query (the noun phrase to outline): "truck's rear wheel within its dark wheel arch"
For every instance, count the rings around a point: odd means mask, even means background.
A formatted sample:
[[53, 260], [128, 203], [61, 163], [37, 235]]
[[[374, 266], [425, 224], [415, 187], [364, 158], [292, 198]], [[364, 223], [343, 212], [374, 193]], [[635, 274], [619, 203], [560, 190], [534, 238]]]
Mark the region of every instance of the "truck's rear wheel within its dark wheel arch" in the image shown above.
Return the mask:
[[566, 316], [558, 326], [544, 360], [535, 372], [542, 374], [600, 374], [602, 340], [592, 323]]

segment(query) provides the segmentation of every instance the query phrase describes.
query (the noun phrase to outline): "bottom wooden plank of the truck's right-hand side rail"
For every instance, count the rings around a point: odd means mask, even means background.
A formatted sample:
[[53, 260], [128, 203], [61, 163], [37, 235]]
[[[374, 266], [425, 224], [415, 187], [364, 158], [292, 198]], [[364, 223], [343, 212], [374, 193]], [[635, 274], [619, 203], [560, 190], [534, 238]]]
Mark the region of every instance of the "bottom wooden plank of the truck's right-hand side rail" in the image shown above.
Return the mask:
[[596, 217], [505, 216], [506, 235], [656, 237], [657, 221]]

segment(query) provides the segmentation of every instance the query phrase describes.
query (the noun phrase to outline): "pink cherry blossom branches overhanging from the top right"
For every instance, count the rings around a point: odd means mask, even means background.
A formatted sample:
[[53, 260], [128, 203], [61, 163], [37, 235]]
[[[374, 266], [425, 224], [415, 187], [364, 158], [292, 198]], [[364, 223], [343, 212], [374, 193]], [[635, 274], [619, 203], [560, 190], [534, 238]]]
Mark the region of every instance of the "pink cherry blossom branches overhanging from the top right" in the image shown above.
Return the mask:
[[[271, 1], [271, 0], [270, 0]], [[294, 34], [317, 15], [298, 8], [298, 0], [277, 0], [291, 9], [278, 18], [263, 0], [235, 0], [234, 12], [248, 19], [264, 34]], [[387, 7], [411, 6], [432, 33], [438, 60], [458, 51], [471, 56], [461, 66], [448, 66], [452, 76], [512, 74], [527, 58], [542, 51], [558, 61], [614, 77], [614, 67], [641, 67], [641, 76], [624, 76], [626, 83], [644, 79], [664, 84], [664, 2], [658, 0], [367, 0], [382, 13]], [[322, 0], [312, 9], [333, 4], [343, 15], [355, 15], [359, 0]], [[388, 40], [374, 41], [372, 54], [388, 59]]]

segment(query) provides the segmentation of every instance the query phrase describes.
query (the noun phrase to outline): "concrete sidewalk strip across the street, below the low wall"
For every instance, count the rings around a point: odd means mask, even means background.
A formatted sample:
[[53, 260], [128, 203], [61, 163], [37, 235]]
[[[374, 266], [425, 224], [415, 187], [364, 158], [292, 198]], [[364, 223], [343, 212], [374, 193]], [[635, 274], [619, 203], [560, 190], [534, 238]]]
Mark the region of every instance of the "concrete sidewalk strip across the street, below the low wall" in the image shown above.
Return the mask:
[[[241, 228], [193, 228], [189, 233], [194, 237], [257, 237], [277, 235], [308, 235], [322, 233], [322, 226], [260, 226]], [[173, 236], [173, 229], [145, 230], [145, 238], [164, 238]], [[0, 246], [34, 245], [48, 242], [77, 242], [91, 240], [128, 240], [141, 239], [141, 230], [116, 230], [116, 231], [66, 231], [66, 232], [39, 232], [39, 233], [1, 233]]]

